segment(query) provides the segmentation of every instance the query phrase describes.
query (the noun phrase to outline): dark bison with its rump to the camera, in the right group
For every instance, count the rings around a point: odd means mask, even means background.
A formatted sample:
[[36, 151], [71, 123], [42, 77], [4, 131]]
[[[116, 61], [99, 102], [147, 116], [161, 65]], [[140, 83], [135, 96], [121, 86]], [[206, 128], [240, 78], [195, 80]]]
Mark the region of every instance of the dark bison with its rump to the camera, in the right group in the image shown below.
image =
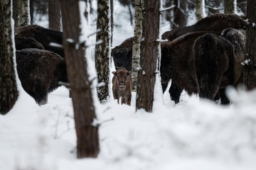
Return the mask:
[[213, 100], [219, 91], [222, 104], [228, 104], [225, 87], [234, 84], [234, 47], [219, 35], [207, 33], [193, 45], [199, 96]]

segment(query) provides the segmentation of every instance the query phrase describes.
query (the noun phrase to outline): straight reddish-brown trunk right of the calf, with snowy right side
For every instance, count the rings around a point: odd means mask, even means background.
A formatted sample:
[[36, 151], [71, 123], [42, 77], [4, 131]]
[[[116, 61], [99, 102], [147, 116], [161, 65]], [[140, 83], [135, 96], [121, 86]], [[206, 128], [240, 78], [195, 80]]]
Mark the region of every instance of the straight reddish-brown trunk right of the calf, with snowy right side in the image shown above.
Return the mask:
[[144, 108], [152, 112], [154, 85], [156, 81], [156, 61], [159, 55], [160, 1], [146, 0], [143, 11], [141, 60], [137, 85], [136, 110]]

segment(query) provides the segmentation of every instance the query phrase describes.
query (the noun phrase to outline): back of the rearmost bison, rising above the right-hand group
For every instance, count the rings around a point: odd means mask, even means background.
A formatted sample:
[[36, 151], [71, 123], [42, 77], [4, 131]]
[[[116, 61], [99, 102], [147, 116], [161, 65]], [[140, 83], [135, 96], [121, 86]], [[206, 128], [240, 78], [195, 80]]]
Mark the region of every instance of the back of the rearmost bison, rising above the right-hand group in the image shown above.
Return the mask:
[[162, 35], [162, 39], [172, 41], [181, 35], [185, 35], [186, 33], [192, 33], [201, 30], [214, 31], [220, 35], [220, 33], [226, 28], [244, 29], [246, 26], [247, 23], [245, 20], [240, 18], [240, 16], [228, 13], [217, 13], [207, 16], [206, 18], [202, 18], [192, 26], [175, 28], [173, 30], [167, 31]]

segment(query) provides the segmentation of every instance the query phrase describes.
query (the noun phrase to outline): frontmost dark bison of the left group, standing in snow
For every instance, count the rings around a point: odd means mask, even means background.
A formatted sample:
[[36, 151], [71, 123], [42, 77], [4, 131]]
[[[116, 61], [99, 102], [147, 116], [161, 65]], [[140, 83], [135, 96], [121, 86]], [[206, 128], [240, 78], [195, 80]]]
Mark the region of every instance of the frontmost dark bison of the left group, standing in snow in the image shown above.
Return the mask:
[[23, 89], [36, 103], [47, 103], [48, 93], [57, 89], [59, 81], [68, 82], [65, 60], [47, 50], [26, 48], [16, 51], [18, 78]]

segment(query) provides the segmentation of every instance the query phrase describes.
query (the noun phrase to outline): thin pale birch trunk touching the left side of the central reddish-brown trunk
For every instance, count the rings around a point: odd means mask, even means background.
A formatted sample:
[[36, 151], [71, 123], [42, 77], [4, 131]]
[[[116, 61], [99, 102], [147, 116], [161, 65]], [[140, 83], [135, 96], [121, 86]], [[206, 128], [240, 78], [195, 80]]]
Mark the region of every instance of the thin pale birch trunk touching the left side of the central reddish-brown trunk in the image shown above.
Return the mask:
[[132, 45], [132, 91], [137, 91], [140, 43], [142, 40], [142, 0], [135, 0], [135, 28]]

